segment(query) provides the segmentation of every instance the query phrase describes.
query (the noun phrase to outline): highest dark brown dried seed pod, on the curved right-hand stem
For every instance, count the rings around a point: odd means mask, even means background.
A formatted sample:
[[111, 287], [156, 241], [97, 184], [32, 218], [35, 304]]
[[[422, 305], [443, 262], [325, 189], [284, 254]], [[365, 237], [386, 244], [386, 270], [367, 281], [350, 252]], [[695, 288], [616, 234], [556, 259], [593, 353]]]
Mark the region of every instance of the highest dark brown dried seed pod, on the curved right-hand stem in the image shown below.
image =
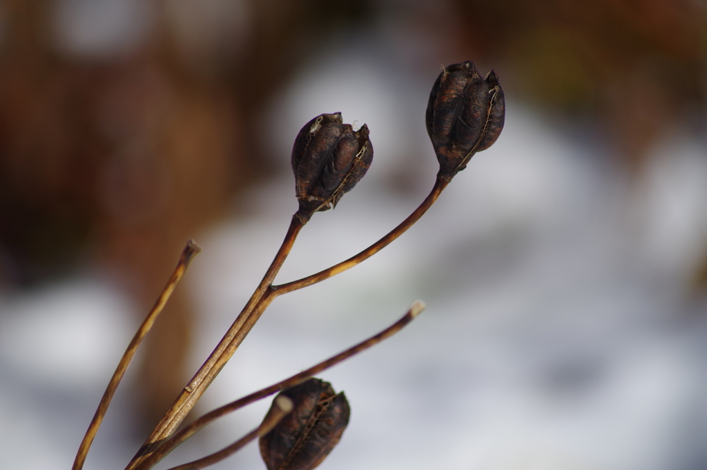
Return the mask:
[[432, 87], [425, 116], [440, 176], [452, 179], [474, 153], [491, 147], [505, 115], [506, 101], [494, 71], [481, 78], [469, 61], [445, 68]]

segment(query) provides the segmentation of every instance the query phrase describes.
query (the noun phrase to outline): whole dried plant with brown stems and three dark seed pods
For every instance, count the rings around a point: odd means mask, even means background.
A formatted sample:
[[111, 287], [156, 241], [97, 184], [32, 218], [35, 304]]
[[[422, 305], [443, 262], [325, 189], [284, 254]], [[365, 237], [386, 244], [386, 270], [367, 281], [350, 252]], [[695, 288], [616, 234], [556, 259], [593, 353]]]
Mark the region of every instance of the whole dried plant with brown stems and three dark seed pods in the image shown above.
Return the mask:
[[[429, 195], [407, 219], [361, 253], [308, 277], [286, 284], [273, 284], [297, 235], [312, 215], [335, 207], [341, 196], [351, 191], [363, 178], [373, 160], [373, 145], [368, 138], [366, 125], [354, 131], [350, 124], [343, 123], [340, 113], [321, 114], [305, 124], [295, 139], [292, 152], [299, 208], [292, 217], [279, 251], [243, 311], [153, 429], [126, 470], [151, 469], [177, 445], [207, 424], [276, 392], [281, 394], [276, 397], [258, 428], [223, 450], [170, 470], [202, 469], [220, 462], [258, 437], [268, 470], [310, 470], [319, 465], [344, 432], [349, 421], [349, 403], [343, 393], [335, 394], [331, 385], [313, 379], [312, 376], [395, 335], [423, 310], [424, 304], [421, 301], [414, 302], [400, 320], [366, 341], [286, 380], [221, 406], [197, 418], [177, 433], [175, 430], [233, 356], [271, 301], [282, 294], [344, 272], [397, 239], [431, 207], [457, 172], [467, 166], [474, 153], [485, 150], [496, 141], [503, 128], [504, 115], [503, 90], [493, 71], [481, 78], [474, 64], [468, 61], [444, 68], [433, 85], [426, 111], [427, 131], [440, 163], [440, 170]], [[78, 448], [73, 470], [83, 468], [91, 442], [136, 349], [197, 253], [199, 247], [189, 241], [168, 284], [120, 360]]]

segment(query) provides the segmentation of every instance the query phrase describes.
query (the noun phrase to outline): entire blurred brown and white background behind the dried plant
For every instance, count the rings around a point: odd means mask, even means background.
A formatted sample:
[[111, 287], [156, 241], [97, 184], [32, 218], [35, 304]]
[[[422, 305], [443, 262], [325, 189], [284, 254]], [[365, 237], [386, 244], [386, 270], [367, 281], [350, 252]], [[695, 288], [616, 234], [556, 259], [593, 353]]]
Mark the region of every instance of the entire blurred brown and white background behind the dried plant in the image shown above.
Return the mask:
[[[204, 252], [88, 456], [122, 468], [232, 323], [296, 211], [321, 113], [373, 166], [278, 277], [414, 210], [443, 65], [494, 68], [506, 128], [401, 239], [277, 299], [199, 411], [386, 327], [322, 374], [351, 423], [322, 469], [707, 468], [707, 5], [699, 0], [0, 1], [0, 461], [68, 469], [189, 238]], [[257, 426], [269, 400], [159, 468]], [[249, 445], [214, 468], [263, 468]]]

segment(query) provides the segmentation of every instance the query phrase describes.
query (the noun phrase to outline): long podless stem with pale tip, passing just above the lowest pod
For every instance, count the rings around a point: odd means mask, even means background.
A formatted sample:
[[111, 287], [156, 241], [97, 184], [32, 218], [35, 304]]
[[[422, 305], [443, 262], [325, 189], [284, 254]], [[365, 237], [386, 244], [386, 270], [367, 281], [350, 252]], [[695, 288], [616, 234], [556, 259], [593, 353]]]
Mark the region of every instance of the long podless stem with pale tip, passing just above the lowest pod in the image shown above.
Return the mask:
[[243, 408], [243, 406], [247, 406], [251, 403], [257, 402], [259, 399], [263, 399], [264, 397], [279, 392], [280, 390], [284, 390], [289, 387], [294, 387], [295, 385], [298, 385], [304, 382], [305, 380], [308, 380], [308, 378], [312, 377], [312, 375], [320, 373], [322, 372], [322, 370], [326, 370], [332, 366], [336, 366], [341, 361], [345, 361], [351, 356], [355, 356], [361, 351], [375, 346], [375, 344], [382, 342], [384, 339], [395, 335], [395, 333], [402, 330], [417, 315], [419, 315], [424, 308], [425, 304], [422, 301], [415, 301], [402, 318], [390, 325], [390, 327], [387, 327], [385, 330], [379, 332], [377, 335], [373, 335], [365, 341], [362, 341], [356, 344], [355, 346], [346, 349], [345, 351], [341, 351], [336, 356], [332, 356], [326, 359], [325, 361], [317, 363], [315, 366], [303, 370], [302, 372], [293, 375], [290, 378], [281, 380], [280, 382], [277, 382], [274, 385], [270, 385], [269, 387], [266, 387], [262, 390], [253, 392], [250, 395], [235, 400], [235, 402], [230, 402], [221, 406], [220, 408], [214, 409], [214, 411], [210, 411], [209, 413], [204, 414], [204, 416], [201, 416], [200, 418], [197, 418], [196, 420], [192, 421], [192, 423], [189, 423], [187, 426], [185, 426], [185, 428], [180, 430], [171, 438], [163, 442], [162, 445], [157, 447], [154, 452], [141, 463], [139, 469], [151, 469], [160, 461], [160, 459], [163, 459], [178, 445], [190, 438], [192, 435], [194, 435], [194, 433], [197, 433], [197, 431], [201, 430], [209, 423], [216, 421], [216, 419], [226, 416], [227, 414], [233, 413], [233, 411], [241, 409]]

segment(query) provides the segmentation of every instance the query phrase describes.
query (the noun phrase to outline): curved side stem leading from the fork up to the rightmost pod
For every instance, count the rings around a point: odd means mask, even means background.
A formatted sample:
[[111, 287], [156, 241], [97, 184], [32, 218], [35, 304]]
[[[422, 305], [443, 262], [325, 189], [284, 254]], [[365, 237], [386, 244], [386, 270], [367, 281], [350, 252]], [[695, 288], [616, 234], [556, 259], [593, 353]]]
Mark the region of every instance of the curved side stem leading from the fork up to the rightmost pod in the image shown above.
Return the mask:
[[316, 274], [313, 274], [311, 276], [303, 277], [302, 279], [298, 279], [297, 281], [272, 286], [271, 290], [273, 291], [273, 294], [279, 296], [281, 294], [287, 294], [288, 292], [302, 289], [303, 287], [311, 286], [312, 284], [317, 284], [317, 282], [322, 282], [325, 279], [329, 279], [329, 277], [335, 276], [341, 272], [349, 270], [351, 269], [351, 267], [354, 267], [359, 263], [362, 263], [363, 261], [367, 260], [371, 256], [375, 255], [375, 253], [381, 251], [393, 240], [397, 239], [399, 236], [404, 234], [407, 229], [412, 227], [412, 225], [417, 222], [425, 212], [427, 212], [431, 205], [435, 203], [439, 195], [442, 193], [444, 188], [447, 187], [448, 184], [448, 180], [443, 179], [438, 175], [437, 180], [435, 181], [435, 186], [433, 186], [432, 191], [430, 191], [428, 196], [425, 198], [425, 200], [422, 201], [419, 207], [417, 207], [417, 209], [414, 210], [414, 212], [412, 212], [412, 214], [409, 215], [407, 219], [405, 219], [397, 227], [395, 227], [395, 229], [392, 229], [390, 232], [388, 232], [388, 234], [382, 239], [376, 241], [375, 243], [373, 243], [373, 245], [361, 251], [361, 253], [358, 253], [358, 255], [354, 255], [348, 260], [342, 261], [338, 265], [329, 267], [328, 269], [317, 272]]

